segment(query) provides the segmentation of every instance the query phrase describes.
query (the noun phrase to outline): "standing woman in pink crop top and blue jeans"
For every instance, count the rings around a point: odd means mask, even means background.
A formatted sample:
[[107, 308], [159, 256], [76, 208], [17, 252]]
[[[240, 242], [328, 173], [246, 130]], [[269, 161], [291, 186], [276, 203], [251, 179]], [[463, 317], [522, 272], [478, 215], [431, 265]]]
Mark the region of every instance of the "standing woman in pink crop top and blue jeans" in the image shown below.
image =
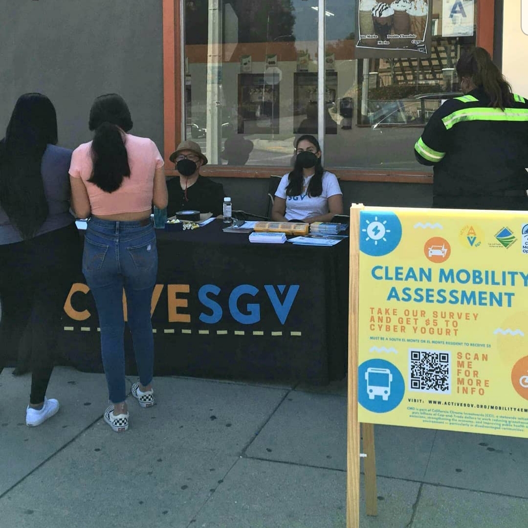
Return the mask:
[[114, 431], [126, 431], [122, 291], [139, 373], [131, 393], [140, 407], [152, 407], [150, 300], [158, 260], [150, 210], [152, 204], [161, 209], [167, 206], [167, 186], [156, 145], [127, 134], [132, 119], [120, 96], [111, 93], [93, 102], [89, 128], [94, 131], [93, 140], [76, 148], [71, 158], [71, 203], [78, 218], [89, 218], [82, 272], [99, 315], [101, 356], [111, 402], [103, 418]]

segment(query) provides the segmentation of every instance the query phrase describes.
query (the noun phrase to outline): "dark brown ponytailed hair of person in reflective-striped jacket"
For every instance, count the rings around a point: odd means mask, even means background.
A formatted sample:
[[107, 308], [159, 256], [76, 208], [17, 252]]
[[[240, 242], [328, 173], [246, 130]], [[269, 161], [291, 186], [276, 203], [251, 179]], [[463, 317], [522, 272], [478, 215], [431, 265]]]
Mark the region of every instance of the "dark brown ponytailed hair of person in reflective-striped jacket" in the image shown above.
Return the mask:
[[484, 48], [466, 50], [457, 63], [458, 78], [469, 77], [490, 99], [489, 106], [504, 108], [513, 102], [512, 87]]

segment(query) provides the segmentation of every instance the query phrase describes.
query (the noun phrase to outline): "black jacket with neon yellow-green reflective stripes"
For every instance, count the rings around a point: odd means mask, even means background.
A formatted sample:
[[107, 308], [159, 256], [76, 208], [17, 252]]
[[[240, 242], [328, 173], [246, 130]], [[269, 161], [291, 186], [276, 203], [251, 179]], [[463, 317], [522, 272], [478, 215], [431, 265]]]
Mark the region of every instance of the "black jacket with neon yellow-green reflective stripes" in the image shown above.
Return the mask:
[[528, 209], [528, 101], [491, 108], [482, 89], [446, 101], [414, 146], [433, 165], [433, 206]]

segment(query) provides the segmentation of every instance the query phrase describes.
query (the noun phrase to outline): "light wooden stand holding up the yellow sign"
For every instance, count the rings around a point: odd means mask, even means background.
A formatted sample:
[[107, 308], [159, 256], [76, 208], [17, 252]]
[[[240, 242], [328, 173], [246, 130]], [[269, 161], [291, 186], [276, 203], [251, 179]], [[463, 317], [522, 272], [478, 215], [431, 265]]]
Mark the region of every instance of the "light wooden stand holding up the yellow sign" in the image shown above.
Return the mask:
[[[347, 410], [347, 474], [346, 474], [346, 528], [360, 525], [360, 424], [357, 420], [358, 372], [358, 317], [359, 317], [359, 261], [360, 212], [363, 204], [350, 208], [350, 297], [348, 305], [348, 410]], [[378, 514], [376, 492], [376, 460], [374, 452], [374, 425], [363, 423], [363, 452], [365, 457], [366, 514]]]

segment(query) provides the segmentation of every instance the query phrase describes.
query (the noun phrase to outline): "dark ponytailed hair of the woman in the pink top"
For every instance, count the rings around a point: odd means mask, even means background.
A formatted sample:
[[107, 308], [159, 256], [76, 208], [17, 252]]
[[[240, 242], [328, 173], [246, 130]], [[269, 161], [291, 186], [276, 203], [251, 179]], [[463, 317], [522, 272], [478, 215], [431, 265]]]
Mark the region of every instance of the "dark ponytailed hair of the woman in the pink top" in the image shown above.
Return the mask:
[[99, 96], [93, 102], [88, 122], [90, 130], [95, 130], [91, 147], [93, 172], [88, 181], [107, 193], [117, 191], [123, 178], [130, 176], [121, 130], [128, 132], [132, 125], [127, 103], [117, 93]]

